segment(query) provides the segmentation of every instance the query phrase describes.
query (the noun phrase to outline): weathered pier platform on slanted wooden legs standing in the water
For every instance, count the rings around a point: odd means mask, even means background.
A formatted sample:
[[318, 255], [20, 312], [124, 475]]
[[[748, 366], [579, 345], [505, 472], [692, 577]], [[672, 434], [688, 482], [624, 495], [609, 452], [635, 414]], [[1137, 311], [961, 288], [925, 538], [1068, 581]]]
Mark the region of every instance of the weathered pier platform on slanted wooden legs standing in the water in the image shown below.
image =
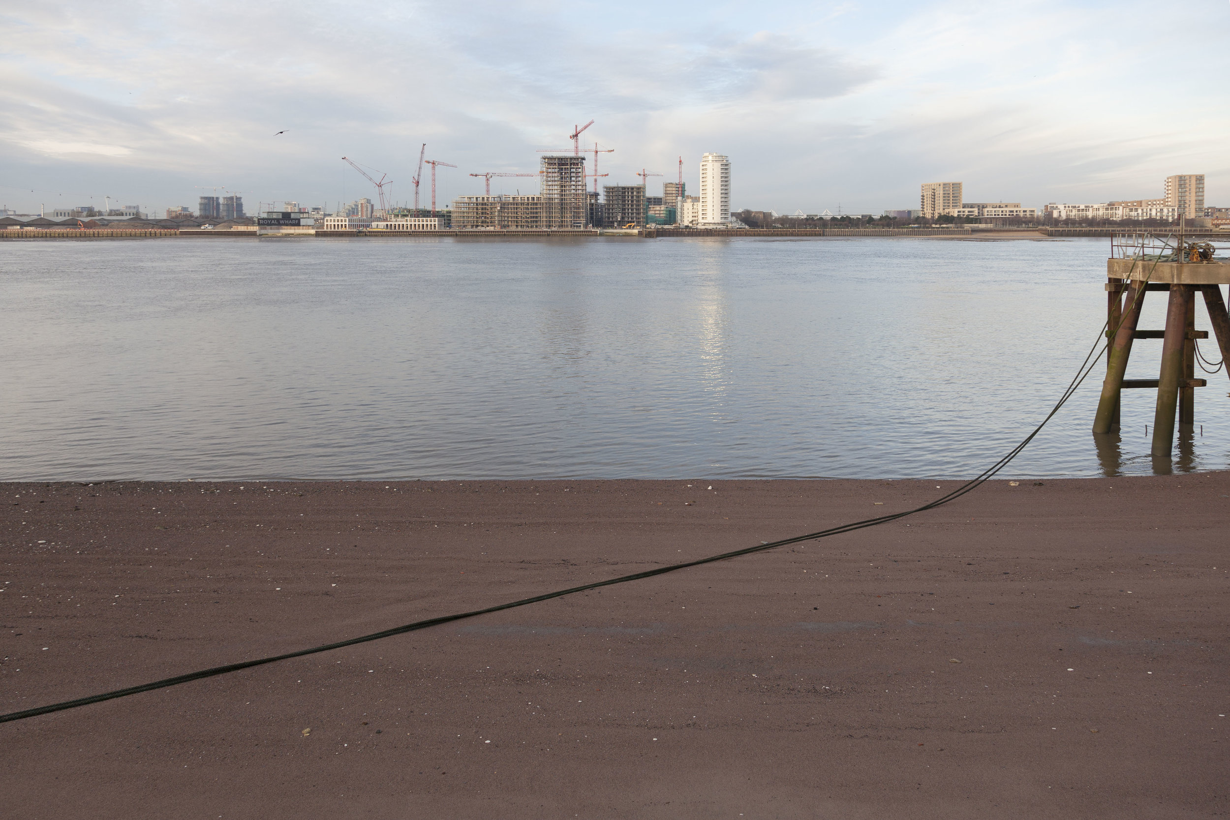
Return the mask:
[[[1111, 242], [1106, 263], [1107, 336], [1106, 380], [1093, 417], [1093, 433], [1119, 428], [1119, 403], [1124, 388], [1156, 388], [1151, 452], [1170, 457], [1175, 443], [1176, 411], [1180, 427], [1196, 423], [1196, 388], [1208, 385], [1196, 377], [1199, 339], [1208, 331], [1196, 329], [1196, 298], [1203, 298], [1209, 323], [1230, 375], [1230, 315], [1221, 285], [1230, 284], [1230, 241], [1225, 236], [1177, 234], [1118, 234]], [[1140, 309], [1149, 293], [1168, 294], [1166, 327], [1143, 331]], [[1124, 379], [1132, 343], [1161, 339], [1161, 371], [1157, 379]], [[1208, 370], [1202, 364], [1203, 370]]]

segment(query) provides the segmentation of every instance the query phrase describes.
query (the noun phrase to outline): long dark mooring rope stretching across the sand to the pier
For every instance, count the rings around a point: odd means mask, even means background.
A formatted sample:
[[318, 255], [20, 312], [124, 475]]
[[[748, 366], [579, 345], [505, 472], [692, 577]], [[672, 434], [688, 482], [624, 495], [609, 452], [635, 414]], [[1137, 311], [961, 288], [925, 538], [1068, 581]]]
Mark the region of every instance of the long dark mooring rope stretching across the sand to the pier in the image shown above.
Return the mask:
[[[1154, 262], [1154, 267], [1156, 267], [1156, 264], [1157, 263]], [[1135, 268], [1135, 262], [1133, 262], [1132, 268], [1133, 269]], [[1129, 269], [1128, 273], [1130, 274], [1130, 269]], [[1149, 275], [1153, 275], [1153, 270], [1149, 272]], [[1148, 277], [1138, 286], [1138, 289], [1135, 291], [1135, 299], [1137, 300], [1139, 300], [1139, 299], [1141, 299], [1144, 296], [1145, 283], [1146, 282], [1148, 282]], [[1132, 307], [1135, 307], [1135, 302], [1132, 304]], [[833, 536], [833, 535], [841, 535], [841, 534], [845, 534], [845, 532], [854, 532], [855, 530], [863, 530], [866, 527], [878, 526], [881, 524], [888, 524], [891, 521], [897, 521], [899, 519], [907, 518], [909, 515], [915, 515], [918, 513], [924, 513], [926, 510], [934, 510], [937, 507], [942, 507], [945, 504], [948, 504], [950, 502], [954, 502], [958, 498], [961, 498], [962, 495], [964, 495], [966, 493], [973, 492], [978, 487], [982, 487], [984, 483], [986, 483], [988, 481], [990, 481], [996, 473], [999, 473], [1001, 470], [1004, 470], [1004, 467], [1006, 467], [1009, 465], [1009, 462], [1011, 462], [1016, 456], [1018, 456], [1021, 454], [1021, 451], [1025, 450], [1025, 447], [1031, 441], [1033, 441], [1034, 436], [1037, 436], [1038, 433], [1042, 432], [1042, 428], [1046, 427], [1047, 422], [1049, 422], [1052, 418], [1054, 418], [1054, 416], [1060, 411], [1060, 408], [1063, 408], [1063, 406], [1068, 403], [1068, 400], [1071, 398], [1073, 393], [1075, 393], [1076, 390], [1081, 386], [1081, 384], [1085, 381], [1085, 379], [1089, 376], [1089, 374], [1092, 373], [1093, 366], [1102, 358], [1102, 354], [1106, 353], [1107, 349], [1109, 349], [1109, 345], [1112, 344], [1116, 333], [1118, 333], [1119, 327], [1122, 327], [1123, 321], [1127, 318], [1127, 316], [1129, 315], [1129, 312], [1130, 312], [1129, 310], [1124, 310], [1124, 311], [1121, 312], [1119, 322], [1113, 328], [1112, 333], [1107, 333], [1107, 329], [1108, 329], [1109, 323], [1111, 323], [1109, 317], [1107, 317], [1107, 321], [1102, 323], [1102, 328], [1098, 331], [1098, 341], [1093, 342], [1093, 345], [1090, 348], [1089, 353], [1085, 354], [1085, 360], [1081, 361], [1080, 368], [1077, 368], [1076, 375], [1073, 376], [1073, 379], [1071, 379], [1070, 382], [1068, 382], [1068, 387], [1064, 390], [1063, 395], [1059, 397], [1059, 401], [1055, 402], [1054, 407], [1050, 408], [1050, 412], [1048, 412], [1046, 414], [1046, 417], [1042, 419], [1042, 422], [1036, 428], [1033, 428], [1033, 430], [1027, 436], [1025, 436], [1025, 439], [1022, 439], [1020, 444], [1017, 444], [1015, 447], [1012, 447], [1011, 450], [1009, 450], [1007, 454], [1005, 454], [999, 461], [996, 461], [994, 465], [991, 465], [990, 467], [988, 467], [986, 470], [984, 470], [977, 477], [969, 479], [968, 482], [966, 482], [964, 484], [962, 484], [957, 489], [952, 491], [951, 493], [941, 495], [940, 498], [935, 499], [934, 502], [929, 502], [929, 503], [924, 504], [922, 507], [916, 507], [916, 508], [914, 508], [911, 510], [905, 510], [905, 511], [902, 511], [902, 513], [891, 513], [888, 515], [881, 515], [878, 518], [865, 519], [862, 521], [851, 521], [850, 524], [843, 524], [840, 526], [829, 527], [827, 530], [819, 530], [817, 532], [808, 532], [807, 535], [798, 535], [798, 536], [795, 536], [795, 537], [791, 537], [791, 538], [782, 538], [780, 541], [770, 541], [770, 542], [761, 543], [761, 545], [758, 545], [758, 546], [754, 546], [754, 547], [745, 547], [743, 550], [734, 550], [732, 552], [723, 552], [723, 553], [720, 553], [720, 554], [716, 554], [716, 556], [708, 556], [706, 558], [697, 558], [696, 561], [685, 561], [685, 562], [678, 563], [678, 564], [668, 564], [665, 567], [658, 567], [657, 569], [647, 569], [645, 572], [632, 573], [631, 575], [620, 575], [619, 578], [610, 578], [608, 580], [599, 580], [599, 581], [594, 581], [592, 584], [583, 584], [581, 586], [571, 586], [568, 589], [561, 589], [561, 590], [556, 590], [554, 593], [544, 593], [542, 595], [534, 595], [533, 597], [523, 597], [520, 600], [509, 601], [507, 604], [497, 604], [496, 606], [488, 606], [488, 607], [485, 607], [485, 609], [481, 609], [481, 610], [471, 610], [469, 612], [458, 612], [458, 613], [454, 613], [454, 615], [443, 615], [443, 616], [434, 617], [434, 618], [426, 618], [423, 621], [415, 621], [413, 623], [406, 623], [403, 626], [397, 626], [397, 627], [392, 627], [392, 628], [389, 628], [389, 629], [383, 629], [380, 632], [373, 632], [370, 634], [359, 636], [357, 638], [348, 638], [346, 641], [337, 641], [335, 643], [326, 643], [326, 644], [321, 644], [319, 647], [311, 647], [309, 649], [299, 649], [296, 652], [288, 652], [288, 653], [283, 653], [280, 655], [269, 655], [267, 658], [257, 658], [255, 660], [244, 660], [244, 661], [235, 663], [235, 664], [225, 664], [223, 666], [213, 666], [210, 669], [202, 669], [202, 670], [198, 670], [198, 671], [194, 671], [194, 672], [187, 672], [186, 675], [176, 675], [173, 677], [165, 677], [165, 679], [157, 680], [157, 681], [150, 681], [149, 684], [140, 684], [138, 686], [129, 686], [127, 688], [117, 688], [117, 690], [113, 690], [113, 691], [109, 691], [109, 692], [101, 692], [98, 695], [90, 695], [87, 697], [79, 697], [79, 698], [75, 698], [75, 700], [71, 700], [71, 701], [62, 701], [59, 703], [49, 703], [47, 706], [39, 706], [39, 707], [34, 707], [32, 709], [22, 709], [20, 712], [10, 712], [9, 714], [0, 714], [0, 723], [9, 723], [9, 722], [12, 722], [12, 720], [22, 720], [25, 718], [33, 718], [33, 717], [37, 717], [39, 714], [50, 714], [52, 712], [63, 712], [65, 709], [74, 709], [74, 708], [80, 707], [80, 706], [90, 706], [91, 703], [102, 703], [103, 701], [113, 701], [113, 700], [119, 698], [119, 697], [128, 697], [129, 695], [139, 695], [141, 692], [151, 692], [154, 690], [166, 688], [169, 686], [178, 686], [180, 684], [188, 684], [188, 682], [192, 682], [192, 681], [203, 680], [205, 677], [215, 677], [218, 675], [226, 675], [229, 672], [237, 672], [237, 671], [244, 670], [244, 669], [251, 669], [253, 666], [262, 666], [264, 664], [272, 664], [272, 663], [277, 663], [279, 660], [289, 660], [292, 658], [303, 658], [304, 655], [312, 655], [312, 654], [316, 654], [316, 653], [321, 653], [321, 652], [330, 652], [331, 649], [341, 649], [343, 647], [353, 647], [355, 644], [368, 643], [370, 641], [380, 641], [381, 638], [391, 638], [394, 636], [405, 634], [407, 632], [416, 632], [418, 629], [426, 629], [428, 627], [440, 626], [440, 625], [444, 625], [444, 623], [451, 623], [454, 621], [462, 621], [465, 618], [472, 618], [472, 617], [476, 617], [476, 616], [480, 616], [480, 615], [490, 615], [492, 612], [499, 612], [502, 610], [512, 610], [512, 609], [515, 609], [518, 606], [528, 606], [530, 604], [539, 604], [541, 601], [549, 601], [549, 600], [555, 599], [555, 597], [563, 597], [565, 595], [573, 595], [576, 593], [584, 593], [584, 591], [590, 590], [590, 589], [600, 589], [603, 586], [611, 586], [611, 585], [615, 585], [615, 584], [626, 584], [629, 581], [642, 580], [642, 579], [646, 579], [646, 578], [653, 578], [656, 575], [665, 575], [667, 573], [678, 572], [680, 569], [689, 569], [691, 567], [700, 567], [702, 564], [711, 564], [711, 563], [716, 563], [718, 561], [729, 561], [731, 558], [738, 558], [738, 557], [742, 557], [742, 556], [750, 556], [750, 554], [754, 554], [754, 553], [758, 553], [758, 552], [768, 552], [770, 550], [776, 550], [777, 547], [785, 547], [785, 546], [791, 545], [791, 543], [801, 543], [803, 541], [815, 541], [818, 538], [827, 538], [827, 537]], [[1098, 350], [1100, 347], [1101, 347], [1101, 350]]]

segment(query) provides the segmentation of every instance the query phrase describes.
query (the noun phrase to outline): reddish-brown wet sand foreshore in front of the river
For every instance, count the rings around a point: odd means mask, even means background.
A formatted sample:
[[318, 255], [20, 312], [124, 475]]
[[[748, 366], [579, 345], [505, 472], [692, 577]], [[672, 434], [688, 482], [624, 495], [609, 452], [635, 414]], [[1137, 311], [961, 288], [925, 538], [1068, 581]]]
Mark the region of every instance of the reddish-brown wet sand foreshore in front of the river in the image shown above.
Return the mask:
[[[688, 484], [0, 484], [0, 709], [954, 486]], [[26, 820], [1224, 814], [1228, 524], [1226, 473], [994, 482], [807, 546], [0, 724], [0, 802]]]

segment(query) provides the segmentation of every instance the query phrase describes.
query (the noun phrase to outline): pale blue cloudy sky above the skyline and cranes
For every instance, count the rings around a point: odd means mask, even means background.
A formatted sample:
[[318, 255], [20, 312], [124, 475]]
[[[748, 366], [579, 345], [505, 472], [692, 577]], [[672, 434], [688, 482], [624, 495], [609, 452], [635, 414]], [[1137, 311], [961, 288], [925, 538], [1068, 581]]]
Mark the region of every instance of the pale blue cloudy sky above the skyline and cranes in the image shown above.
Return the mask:
[[967, 202], [1138, 199], [1171, 173], [1230, 207], [1228, 103], [1230, 0], [0, 0], [0, 204], [20, 213], [376, 199], [343, 156], [407, 203], [424, 143], [458, 166], [444, 207], [590, 119], [582, 143], [614, 149], [600, 184], [643, 170], [654, 195], [681, 157], [691, 191], [716, 151], [734, 210], [878, 214], [937, 181]]

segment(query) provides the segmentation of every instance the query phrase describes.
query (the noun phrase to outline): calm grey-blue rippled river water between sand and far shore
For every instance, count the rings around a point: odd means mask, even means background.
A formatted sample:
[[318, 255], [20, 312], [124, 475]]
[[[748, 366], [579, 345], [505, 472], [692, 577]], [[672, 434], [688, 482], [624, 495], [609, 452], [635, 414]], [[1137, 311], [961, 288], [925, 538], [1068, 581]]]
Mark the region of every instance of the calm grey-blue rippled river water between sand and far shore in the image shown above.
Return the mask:
[[[1097, 339], [1107, 250], [4, 242], [0, 477], [966, 477]], [[1164, 313], [1150, 294], [1140, 327]], [[1138, 342], [1128, 376], [1156, 377], [1160, 350]], [[1127, 391], [1122, 440], [1095, 441], [1101, 377], [1009, 472], [1168, 468], [1148, 455], [1153, 391]], [[1175, 470], [1228, 465], [1230, 381], [1208, 379]]]

